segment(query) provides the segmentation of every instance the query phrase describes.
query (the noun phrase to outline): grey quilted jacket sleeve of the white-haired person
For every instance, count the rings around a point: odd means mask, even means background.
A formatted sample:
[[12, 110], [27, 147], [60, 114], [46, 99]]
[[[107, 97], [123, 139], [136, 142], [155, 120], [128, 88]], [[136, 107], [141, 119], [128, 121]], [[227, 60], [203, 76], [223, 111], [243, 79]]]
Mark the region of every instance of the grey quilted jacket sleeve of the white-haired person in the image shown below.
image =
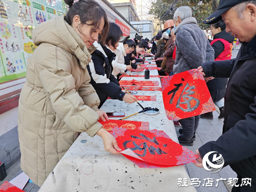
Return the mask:
[[180, 30], [180, 32], [177, 32], [176, 43], [182, 56], [186, 59], [192, 69], [196, 69], [204, 63], [202, 52], [199, 50], [190, 32], [187, 30]]

